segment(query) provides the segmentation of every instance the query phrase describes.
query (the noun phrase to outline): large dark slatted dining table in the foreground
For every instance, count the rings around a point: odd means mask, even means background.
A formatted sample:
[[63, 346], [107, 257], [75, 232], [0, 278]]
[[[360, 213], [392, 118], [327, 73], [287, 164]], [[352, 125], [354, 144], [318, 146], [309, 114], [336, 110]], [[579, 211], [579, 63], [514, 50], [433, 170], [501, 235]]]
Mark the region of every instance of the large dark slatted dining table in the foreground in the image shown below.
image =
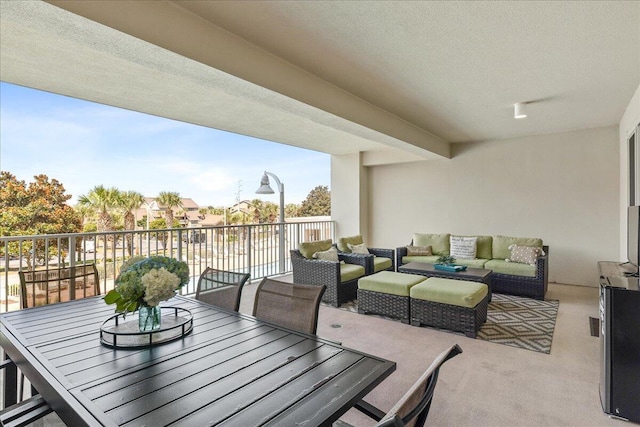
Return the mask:
[[94, 297], [2, 314], [1, 344], [69, 426], [331, 425], [396, 367], [192, 298], [163, 305], [190, 310], [193, 331], [107, 347], [113, 306]]

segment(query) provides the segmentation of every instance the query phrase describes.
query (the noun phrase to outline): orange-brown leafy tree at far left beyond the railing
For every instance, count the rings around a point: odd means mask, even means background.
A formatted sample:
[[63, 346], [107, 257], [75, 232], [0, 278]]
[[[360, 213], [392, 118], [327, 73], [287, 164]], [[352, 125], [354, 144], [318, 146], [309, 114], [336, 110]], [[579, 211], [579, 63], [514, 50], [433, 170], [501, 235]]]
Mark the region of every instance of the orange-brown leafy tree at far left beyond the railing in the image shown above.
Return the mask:
[[[34, 182], [27, 185], [9, 172], [0, 172], [0, 236], [82, 231], [82, 218], [66, 203], [71, 195], [65, 193], [60, 182], [49, 180], [46, 175], [34, 176]], [[48, 254], [45, 254], [46, 249]], [[33, 241], [24, 242], [22, 247], [12, 243], [8, 247], [0, 247], [0, 252], [26, 256], [27, 267], [31, 269], [31, 256], [44, 258], [68, 249], [57, 247], [56, 239], [37, 239], [35, 247]]]

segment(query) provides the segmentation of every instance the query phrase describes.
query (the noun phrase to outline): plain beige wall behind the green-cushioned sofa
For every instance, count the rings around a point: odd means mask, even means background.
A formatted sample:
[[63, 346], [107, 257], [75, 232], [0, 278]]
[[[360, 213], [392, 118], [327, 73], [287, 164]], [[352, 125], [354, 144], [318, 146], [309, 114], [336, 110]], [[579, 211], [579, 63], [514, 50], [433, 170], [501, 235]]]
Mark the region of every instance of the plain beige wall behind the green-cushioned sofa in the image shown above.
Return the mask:
[[540, 237], [550, 281], [597, 286], [597, 261], [619, 256], [618, 139], [611, 126], [370, 167], [367, 244], [403, 246], [414, 232]]

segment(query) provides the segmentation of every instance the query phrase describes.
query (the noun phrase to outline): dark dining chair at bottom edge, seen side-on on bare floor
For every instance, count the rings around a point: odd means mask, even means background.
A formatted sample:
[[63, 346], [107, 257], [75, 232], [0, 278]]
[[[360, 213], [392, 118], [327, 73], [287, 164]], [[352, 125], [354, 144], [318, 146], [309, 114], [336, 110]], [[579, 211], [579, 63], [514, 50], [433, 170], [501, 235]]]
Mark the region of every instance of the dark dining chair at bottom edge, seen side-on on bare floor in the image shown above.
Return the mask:
[[[354, 407], [368, 417], [378, 421], [377, 427], [424, 426], [431, 408], [440, 368], [444, 362], [460, 353], [462, 353], [462, 349], [457, 344], [440, 353], [418, 381], [388, 412], [385, 413], [364, 400], [356, 403]], [[334, 423], [334, 427], [348, 426], [350, 424], [340, 420]]]

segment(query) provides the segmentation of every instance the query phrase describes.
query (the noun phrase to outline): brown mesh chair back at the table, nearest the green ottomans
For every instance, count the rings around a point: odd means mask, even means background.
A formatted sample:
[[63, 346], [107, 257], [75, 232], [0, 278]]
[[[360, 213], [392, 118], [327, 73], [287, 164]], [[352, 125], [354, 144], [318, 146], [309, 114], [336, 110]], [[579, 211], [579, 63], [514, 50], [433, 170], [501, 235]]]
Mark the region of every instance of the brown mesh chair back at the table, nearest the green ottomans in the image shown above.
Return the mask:
[[320, 300], [326, 286], [262, 279], [253, 303], [253, 316], [285, 328], [315, 335]]

